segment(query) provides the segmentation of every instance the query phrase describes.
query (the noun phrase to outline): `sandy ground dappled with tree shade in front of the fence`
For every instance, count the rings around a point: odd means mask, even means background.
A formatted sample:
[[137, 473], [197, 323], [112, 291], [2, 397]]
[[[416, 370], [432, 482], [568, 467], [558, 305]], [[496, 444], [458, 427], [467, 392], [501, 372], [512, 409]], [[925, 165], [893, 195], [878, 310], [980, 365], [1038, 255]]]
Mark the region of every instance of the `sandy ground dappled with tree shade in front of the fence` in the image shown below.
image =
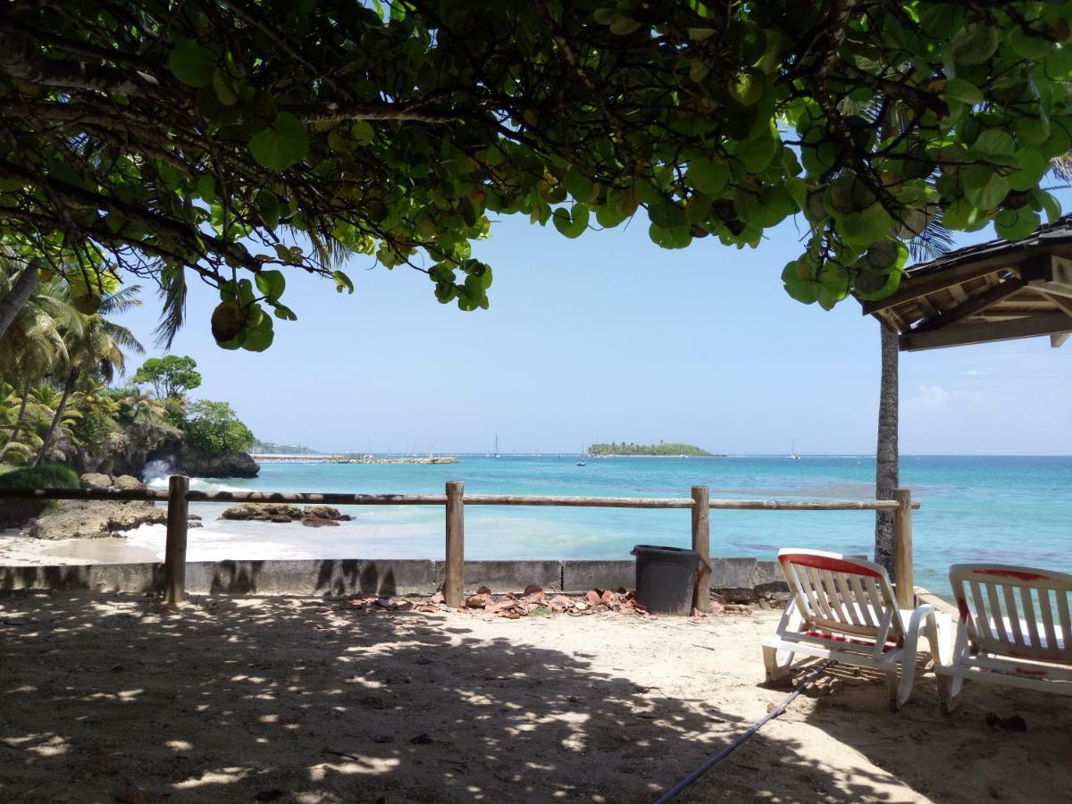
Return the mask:
[[[0, 801], [651, 802], [785, 696], [774, 625], [6, 593]], [[925, 673], [891, 714], [832, 673], [680, 801], [1059, 800], [1064, 700], [974, 685], [943, 716]]]

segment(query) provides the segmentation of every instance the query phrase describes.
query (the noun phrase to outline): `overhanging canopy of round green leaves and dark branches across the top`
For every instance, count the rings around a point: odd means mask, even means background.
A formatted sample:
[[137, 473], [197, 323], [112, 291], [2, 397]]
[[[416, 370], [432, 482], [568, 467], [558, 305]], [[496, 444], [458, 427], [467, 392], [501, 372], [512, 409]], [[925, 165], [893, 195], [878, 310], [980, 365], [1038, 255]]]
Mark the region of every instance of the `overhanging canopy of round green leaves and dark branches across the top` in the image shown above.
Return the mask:
[[[892, 293], [935, 221], [1022, 237], [1072, 146], [1070, 2], [54, 0], [0, 10], [0, 230], [88, 307], [192, 273], [267, 348], [354, 254], [488, 306], [489, 215], [673, 249], [801, 213], [786, 289]], [[568, 288], [564, 288], [568, 292]], [[273, 315], [272, 315], [273, 314]]]

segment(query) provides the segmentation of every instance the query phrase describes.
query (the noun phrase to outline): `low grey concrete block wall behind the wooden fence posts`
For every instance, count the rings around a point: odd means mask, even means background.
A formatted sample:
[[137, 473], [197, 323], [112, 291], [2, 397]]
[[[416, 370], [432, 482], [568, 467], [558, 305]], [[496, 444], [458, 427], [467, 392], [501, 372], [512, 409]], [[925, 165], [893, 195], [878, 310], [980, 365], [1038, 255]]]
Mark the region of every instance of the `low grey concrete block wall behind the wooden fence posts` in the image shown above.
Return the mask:
[[[431, 595], [443, 585], [442, 561], [317, 559], [222, 561], [187, 564], [187, 591], [195, 594]], [[162, 564], [0, 566], [0, 590], [54, 589], [147, 593], [163, 589]], [[467, 561], [465, 589], [520, 592], [528, 584], [548, 592], [631, 589], [631, 561]], [[748, 597], [786, 591], [775, 562], [715, 559], [711, 587]]]

